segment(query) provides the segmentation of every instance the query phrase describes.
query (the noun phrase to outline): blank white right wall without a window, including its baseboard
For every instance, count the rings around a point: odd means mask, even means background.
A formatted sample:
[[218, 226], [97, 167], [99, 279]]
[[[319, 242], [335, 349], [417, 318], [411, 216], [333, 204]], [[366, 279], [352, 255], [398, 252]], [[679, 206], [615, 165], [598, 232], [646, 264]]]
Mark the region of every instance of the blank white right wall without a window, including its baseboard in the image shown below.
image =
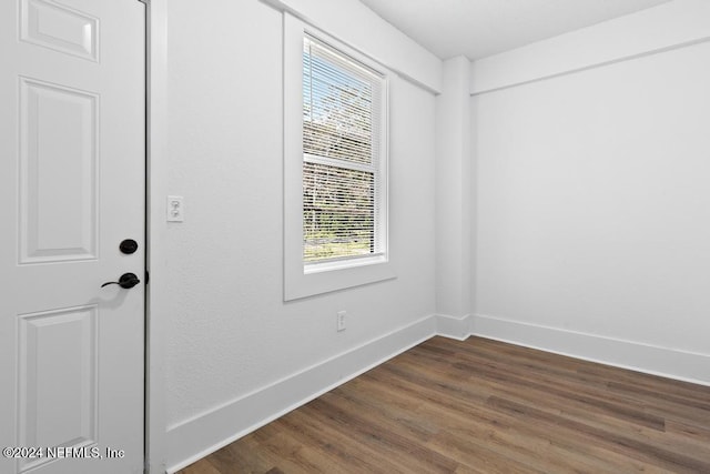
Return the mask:
[[[703, 38], [471, 99], [474, 332], [710, 383]], [[554, 62], [558, 47], [496, 63]]]

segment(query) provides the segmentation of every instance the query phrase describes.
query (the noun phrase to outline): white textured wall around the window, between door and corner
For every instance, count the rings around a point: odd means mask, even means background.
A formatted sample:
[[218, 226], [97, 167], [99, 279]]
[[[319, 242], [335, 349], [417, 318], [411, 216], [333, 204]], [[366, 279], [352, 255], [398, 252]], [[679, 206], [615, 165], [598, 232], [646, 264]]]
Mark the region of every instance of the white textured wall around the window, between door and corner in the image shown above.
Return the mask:
[[[165, 331], [168, 465], [175, 467], [226, 441], [215, 424], [230, 422], [224, 430], [232, 436], [267, 421], [252, 420], [242, 401], [256, 400], [250, 411], [274, 416], [332, 379], [276, 402], [260, 400], [260, 391], [434, 313], [435, 98], [393, 77], [389, 232], [397, 278], [285, 304], [282, 13], [257, 1], [171, 0], [168, 30], [166, 188], [184, 196], [186, 218], [165, 230], [164, 266], [154, 269], [151, 284], [162, 294], [154, 306]], [[347, 329], [338, 333], [341, 310]], [[397, 340], [385, 355], [416, 337]], [[334, 376], [368, 364], [335, 366]]]

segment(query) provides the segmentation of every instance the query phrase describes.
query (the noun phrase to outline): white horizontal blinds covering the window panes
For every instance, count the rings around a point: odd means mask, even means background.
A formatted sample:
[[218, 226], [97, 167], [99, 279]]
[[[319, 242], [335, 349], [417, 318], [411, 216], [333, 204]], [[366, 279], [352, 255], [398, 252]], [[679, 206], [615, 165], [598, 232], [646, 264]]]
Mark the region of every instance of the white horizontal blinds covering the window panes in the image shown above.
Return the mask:
[[311, 37], [303, 42], [303, 260], [383, 254], [384, 79]]

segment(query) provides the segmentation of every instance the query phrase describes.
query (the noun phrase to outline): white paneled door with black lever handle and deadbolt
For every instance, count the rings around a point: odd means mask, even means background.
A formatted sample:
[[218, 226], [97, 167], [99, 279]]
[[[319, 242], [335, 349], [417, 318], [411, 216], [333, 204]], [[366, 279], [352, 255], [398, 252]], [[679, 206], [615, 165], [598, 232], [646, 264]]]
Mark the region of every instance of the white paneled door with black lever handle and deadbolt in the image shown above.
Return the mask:
[[143, 472], [144, 10], [0, 0], [2, 474]]

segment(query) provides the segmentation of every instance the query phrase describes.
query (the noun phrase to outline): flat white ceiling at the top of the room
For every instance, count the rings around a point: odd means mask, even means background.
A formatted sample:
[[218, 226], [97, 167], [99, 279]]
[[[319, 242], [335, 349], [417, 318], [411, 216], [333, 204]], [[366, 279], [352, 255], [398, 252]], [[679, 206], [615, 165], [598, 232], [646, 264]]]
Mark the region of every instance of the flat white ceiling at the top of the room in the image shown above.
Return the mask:
[[470, 60], [669, 0], [361, 0], [440, 59]]

